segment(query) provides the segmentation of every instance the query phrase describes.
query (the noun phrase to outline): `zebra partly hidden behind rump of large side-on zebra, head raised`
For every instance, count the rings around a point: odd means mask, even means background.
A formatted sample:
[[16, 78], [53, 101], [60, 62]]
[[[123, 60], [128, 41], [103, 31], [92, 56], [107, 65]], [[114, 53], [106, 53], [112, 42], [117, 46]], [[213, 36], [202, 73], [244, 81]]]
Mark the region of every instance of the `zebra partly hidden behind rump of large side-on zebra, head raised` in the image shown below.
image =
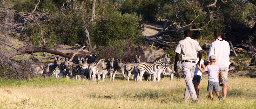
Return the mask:
[[129, 81], [129, 79], [130, 79], [131, 74], [132, 74], [133, 80], [138, 80], [138, 77], [134, 77], [134, 74], [135, 74], [135, 72], [138, 71], [138, 69], [137, 69], [137, 63], [140, 62], [140, 56], [139, 56], [139, 58], [138, 58], [138, 56], [136, 55], [135, 58], [136, 58], [136, 59], [135, 59], [134, 61], [132, 61], [131, 63], [126, 64], [126, 67], [125, 67], [125, 68], [126, 68], [126, 71], [128, 72], [128, 75], [127, 75], [127, 80], [128, 80], [128, 81]]

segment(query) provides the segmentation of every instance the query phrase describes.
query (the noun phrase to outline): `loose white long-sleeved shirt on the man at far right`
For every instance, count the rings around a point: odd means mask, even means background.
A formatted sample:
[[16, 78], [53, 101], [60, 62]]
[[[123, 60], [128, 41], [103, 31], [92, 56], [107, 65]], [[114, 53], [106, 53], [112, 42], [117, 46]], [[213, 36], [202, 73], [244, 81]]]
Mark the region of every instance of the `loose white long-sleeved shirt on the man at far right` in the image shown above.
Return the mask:
[[[219, 39], [219, 40], [218, 40]], [[228, 69], [229, 62], [229, 54], [230, 47], [229, 43], [222, 38], [218, 38], [210, 45], [209, 53], [208, 53], [208, 62], [210, 62], [210, 56], [214, 55], [217, 58], [215, 65], [220, 67], [220, 70]], [[222, 41], [223, 40], [223, 41]]]

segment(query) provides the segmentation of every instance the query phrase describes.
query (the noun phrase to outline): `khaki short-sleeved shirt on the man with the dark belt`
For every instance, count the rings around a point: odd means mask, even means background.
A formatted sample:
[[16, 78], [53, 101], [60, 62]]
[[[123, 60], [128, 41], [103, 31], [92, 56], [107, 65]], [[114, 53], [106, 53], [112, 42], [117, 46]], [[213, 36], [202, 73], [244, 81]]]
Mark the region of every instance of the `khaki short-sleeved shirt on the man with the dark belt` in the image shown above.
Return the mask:
[[186, 37], [184, 40], [179, 41], [175, 50], [176, 53], [181, 54], [181, 61], [196, 61], [198, 51], [202, 51], [202, 48], [196, 40], [193, 40], [190, 37]]

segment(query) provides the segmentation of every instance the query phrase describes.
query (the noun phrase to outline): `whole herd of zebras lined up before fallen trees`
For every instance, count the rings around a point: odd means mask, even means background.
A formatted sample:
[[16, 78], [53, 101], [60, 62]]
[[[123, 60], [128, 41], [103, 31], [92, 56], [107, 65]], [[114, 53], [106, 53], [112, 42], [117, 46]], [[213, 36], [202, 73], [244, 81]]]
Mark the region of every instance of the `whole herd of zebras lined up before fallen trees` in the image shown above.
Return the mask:
[[[160, 81], [164, 76], [170, 76], [170, 80], [173, 79], [174, 69], [173, 64], [170, 64], [169, 55], [164, 54], [160, 58], [153, 62], [140, 62], [140, 56], [136, 55], [135, 60], [130, 63], [123, 63], [122, 59], [100, 59], [91, 64], [87, 63], [88, 58], [78, 58], [75, 62], [72, 62], [68, 58], [55, 58], [54, 63], [48, 64], [35, 64], [31, 63], [32, 68], [36, 74], [50, 74], [55, 78], [66, 77], [75, 79], [88, 79], [96, 81], [106, 78], [109, 75], [110, 81], [115, 80], [117, 71], [121, 71], [123, 79], [125, 80], [125, 74], [127, 74], [127, 80], [130, 76], [134, 81], [142, 81], [143, 75], [148, 75], [147, 80]], [[151, 76], [152, 75], [152, 76]], [[145, 76], [144, 76], [145, 78]]]

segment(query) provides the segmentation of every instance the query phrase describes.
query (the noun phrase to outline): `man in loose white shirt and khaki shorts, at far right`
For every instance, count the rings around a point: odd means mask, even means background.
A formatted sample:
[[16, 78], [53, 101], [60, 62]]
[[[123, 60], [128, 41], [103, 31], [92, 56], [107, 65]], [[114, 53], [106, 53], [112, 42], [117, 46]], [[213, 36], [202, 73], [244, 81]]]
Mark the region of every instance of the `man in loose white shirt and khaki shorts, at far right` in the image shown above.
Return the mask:
[[214, 31], [214, 39], [212, 42], [209, 53], [208, 53], [208, 65], [210, 64], [210, 56], [215, 55], [219, 61], [215, 64], [220, 68], [220, 86], [222, 86], [223, 98], [226, 98], [228, 92], [228, 67], [230, 47], [229, 43], [221, 38], [221, 33], [219, 30]]

